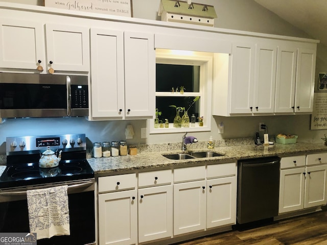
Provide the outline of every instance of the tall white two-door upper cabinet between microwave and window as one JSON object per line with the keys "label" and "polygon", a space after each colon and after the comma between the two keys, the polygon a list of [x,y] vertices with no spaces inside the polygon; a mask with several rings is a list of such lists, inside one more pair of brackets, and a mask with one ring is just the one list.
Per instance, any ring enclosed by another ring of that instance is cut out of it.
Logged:
{"label": "tall white two-door upper cabinet between microwave and window", "polygon": [[152,118],[153,34],[91,28],[91,119]]}

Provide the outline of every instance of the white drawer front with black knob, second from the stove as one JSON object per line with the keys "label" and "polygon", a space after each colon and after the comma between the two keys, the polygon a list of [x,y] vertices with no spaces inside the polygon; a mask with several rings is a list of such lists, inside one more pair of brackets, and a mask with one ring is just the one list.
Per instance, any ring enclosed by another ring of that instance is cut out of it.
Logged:
{"label": "white drawer front with black knob, second from the stove", "polygon": [[172,183],[172,170],[150,171],[138,174],[138,187],[169,185]]}

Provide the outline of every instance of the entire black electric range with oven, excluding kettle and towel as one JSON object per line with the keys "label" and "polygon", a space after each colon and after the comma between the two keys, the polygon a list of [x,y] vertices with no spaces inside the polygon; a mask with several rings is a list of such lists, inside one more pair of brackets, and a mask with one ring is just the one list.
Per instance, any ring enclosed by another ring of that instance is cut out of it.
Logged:
{"label": "entire black electric range with oven, excluding kettle and towel", "polygon": [[[68,185],[71,235],[39,239],[37,244],[94,244],[94,171],[86,160],[85,134],[9,137],[7,167],[0,177],[0,233],[30,232],[26,191]],[[40,168],[50,146],[62,151],[57,167]]]}

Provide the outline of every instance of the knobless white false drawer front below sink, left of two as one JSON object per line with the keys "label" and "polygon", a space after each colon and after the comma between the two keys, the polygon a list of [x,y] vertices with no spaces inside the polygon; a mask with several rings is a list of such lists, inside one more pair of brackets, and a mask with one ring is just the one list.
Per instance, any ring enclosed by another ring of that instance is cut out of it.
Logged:
{"label": "knobless white false drawer front below sink, left of two", "polygon": [[174,169],[174,182],[185,182],[205,179],[205,166]]}

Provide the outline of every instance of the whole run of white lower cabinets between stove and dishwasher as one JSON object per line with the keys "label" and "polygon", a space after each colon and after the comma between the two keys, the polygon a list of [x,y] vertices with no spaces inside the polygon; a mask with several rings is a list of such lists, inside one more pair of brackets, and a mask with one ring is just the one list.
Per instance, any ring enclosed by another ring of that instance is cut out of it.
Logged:
{"label": "whole run of white lower cabinets between stove and dishwasher", "polygon": [[98,179],[99,244],[159,242],[236,223],[233,163]]}

